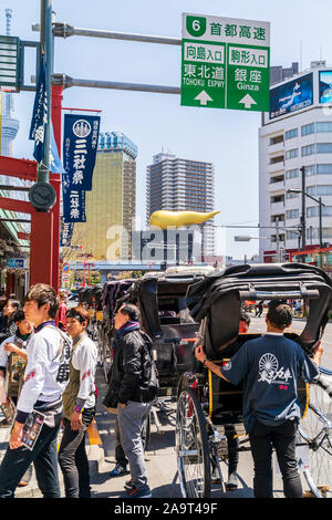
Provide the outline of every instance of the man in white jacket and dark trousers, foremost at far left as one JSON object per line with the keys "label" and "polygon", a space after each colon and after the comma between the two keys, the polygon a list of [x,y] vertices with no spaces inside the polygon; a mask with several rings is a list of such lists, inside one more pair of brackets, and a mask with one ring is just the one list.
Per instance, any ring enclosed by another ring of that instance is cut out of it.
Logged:
{"label": "man in white jacket and dark trousers, foremost at far left", "polygon": [[[60,498],[58,476],[58,431],[63,416],[62,394],[69,381],[71,340],[55,325],[59,310],[56,293],[38,283],[25,297],[27,320],[34,323],[27,354],[24,384],[18,401],[17,417],[9,448],[0,466],[0,497],[11,498],[33,462],[39,488],[44,498]],[[22,444],[23,426],[35,409],[44,423],[32,450]]]}

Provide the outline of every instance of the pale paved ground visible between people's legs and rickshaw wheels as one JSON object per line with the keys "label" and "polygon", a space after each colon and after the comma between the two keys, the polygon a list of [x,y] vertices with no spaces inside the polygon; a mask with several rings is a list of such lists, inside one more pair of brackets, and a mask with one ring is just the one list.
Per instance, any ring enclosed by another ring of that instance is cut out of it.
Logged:
{"label": "pale paved ground visible between people's legs and rickshaw wheels", "polygon": [[[96,410],[96,426],[90,436],[86,436],[86,449],[91,467],[92,498],[122,498],[124,483],[129,475],[111,478],[110,471],[115,466],[115,416],[110,414],[102,405],[106,391],[106,383],[98,371],[96,377],[98,386],[98,403]],[[180,498],[180,486],[177,474],[177,460],[175,454],[175,410],[176,403],[167,401],[166,413],[158,412],[158,433],[156,424],[152,424],[151,440],[145,453],[148,483],[154,498]],[[0,428],[0,460],[8,446],[9,428]],[[59,436],[59,440],[61,435]],[[222,475],[227,477],[227,465],[222,462]],[[59,468],[60,482],[63,492],[62,472]],[[237,491],[222,493],[219,486],[211,489],[211,498],[252,498],[252,458],[250,453],[241,453],[238,467],[239,487]],[[282,481],[279,475],[274,475],[274,496],[283,497]],[[24,488],[18,488],[18,498],[41,498],[35,476]]]}

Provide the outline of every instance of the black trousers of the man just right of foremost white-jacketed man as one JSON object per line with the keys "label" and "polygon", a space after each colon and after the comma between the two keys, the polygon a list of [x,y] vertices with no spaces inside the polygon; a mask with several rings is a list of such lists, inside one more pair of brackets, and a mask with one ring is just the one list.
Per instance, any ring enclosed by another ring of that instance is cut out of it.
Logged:
{"label": "black trousers of the man just right of foremost white-jacketed man", "polygon": [[66,498],[90,498],[89,460],[85,451],[85,430],[95,415],[95,407],[82,413],[83,425],[79,430],[71,428],[64,418],[64,430],[59,449],[59,465],[63,474]]}

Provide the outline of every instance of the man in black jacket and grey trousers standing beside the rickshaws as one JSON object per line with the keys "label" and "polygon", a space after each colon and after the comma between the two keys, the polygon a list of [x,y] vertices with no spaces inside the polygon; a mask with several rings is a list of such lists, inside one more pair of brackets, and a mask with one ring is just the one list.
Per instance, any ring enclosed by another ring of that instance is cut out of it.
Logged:
{"label": "man in black jacket and grey trousers standing beside the rickshaws", "polygon": [[129,462],[131,479],[123,498],[151,498],[142,426],[158,389],[152,340],[139,330],[139,311],[133,304],[118,309],[114,327],[114,361],[103,404],[106,408],[116,408],[121,445]]}

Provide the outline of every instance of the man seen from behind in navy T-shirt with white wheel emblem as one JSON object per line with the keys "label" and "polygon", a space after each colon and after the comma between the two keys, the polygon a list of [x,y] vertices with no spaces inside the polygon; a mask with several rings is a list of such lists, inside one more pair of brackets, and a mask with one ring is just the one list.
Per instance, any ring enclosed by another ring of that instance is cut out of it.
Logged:
{"label": "man seen from behind in navy T-shirt with white wheel emblem", "polygon": [[323,347],[319,341],[313,357],[287,339],[283,331],[292,322],[292,310],[283,301],[272,301],[266,315],[267,332],[247,341],[222,365],[209,361],[199,345],[195,355],[204,366],[224,379],[243,382],[243,423],[253,458],[253,493],[272,498],[272,449],[276,449],[287,498],[302,498],[295,457],[295,436],[301,419],[297,382],[314,382]]}

